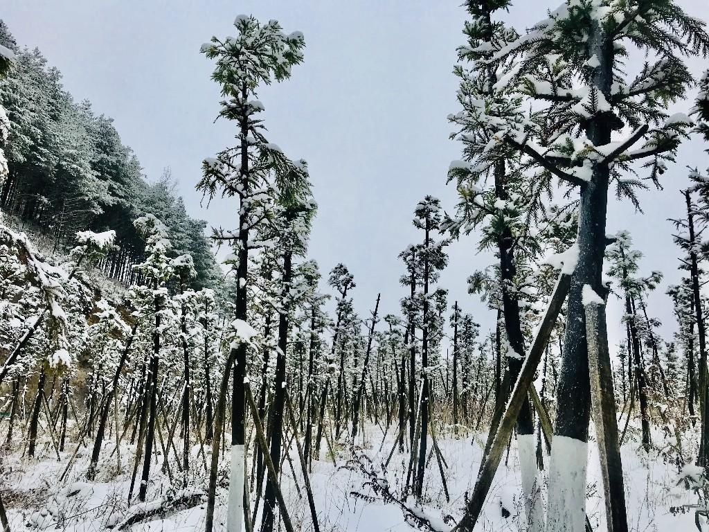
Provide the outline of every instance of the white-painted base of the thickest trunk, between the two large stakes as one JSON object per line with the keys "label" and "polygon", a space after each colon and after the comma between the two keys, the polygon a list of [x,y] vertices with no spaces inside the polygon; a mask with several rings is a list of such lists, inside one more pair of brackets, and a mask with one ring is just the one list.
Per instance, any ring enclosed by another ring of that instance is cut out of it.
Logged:
{"label": "white-painted base of the thickest trunk, between the two large stakes", "polygon": [[586,526],[588,444],[554,436],[549,464],[547,532],[583,532]]}

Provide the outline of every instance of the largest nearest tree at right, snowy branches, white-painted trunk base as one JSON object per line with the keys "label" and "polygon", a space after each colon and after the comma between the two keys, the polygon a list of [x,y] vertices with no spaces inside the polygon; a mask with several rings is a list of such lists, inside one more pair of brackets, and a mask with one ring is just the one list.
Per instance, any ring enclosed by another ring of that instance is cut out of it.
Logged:
{"label": "largest nearest tree at right, snowy branches, white-painted trunk base", "polygon": [[[647,50],[652,59],[627,81],[623,63],[632,47]],[[657,182],[665,161],[674,160],[688,119],[665,110],[692,82],[681,55],[708,51],[703,23],[675,2],[658,0],[623,6],[569,1],[498,52],[501,58],[525,54],[516,79],[532,98],[547,103],[535,113],[534,127],[510,131],[502,143],[580,189],[579,255],[571,275],[549,472],[549,532],[579,530],[584,522],[585,504],[579,501],[585,500],[590,396],[581,293],[587,285],[596,294],[606,292],[601,275],[608,188],[615,184],[616,194],[637,206],[633,186],[642,183],[623,179],[623,173],[642,161]],[[623,140],[611,142],[613,131],[624,130]],[[570,455],[578,459],[569,461]]]}

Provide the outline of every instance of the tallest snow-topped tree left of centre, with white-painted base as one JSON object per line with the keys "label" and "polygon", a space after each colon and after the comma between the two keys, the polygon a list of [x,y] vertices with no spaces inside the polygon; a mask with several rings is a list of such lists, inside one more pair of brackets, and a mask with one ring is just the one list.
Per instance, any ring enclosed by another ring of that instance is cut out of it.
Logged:
{"label": "tallest snow-topped tree left of centre, with white-painted base", "polygon": [[[213,37],[202,45],[201,52],[216,60],[212,79],[220,86],[223,96],[219,116],[235,121],[237,145],[218,153],[215,159],[203,162],[203,177],[197,189],[210,199],[217,194],[236,196],[239,200],[238,229],[215,231],[217,240],[233,244],[237,255],[237,287],[234,317],[247,323],[248,262],[250,231],[262,221],[263,194],[273,177],[279,189],[290,194],[290,186],[298,187],[305,179],[300,165],[289,161],[281,149],[267,142],[259,113],[264,106],[256,99],[257,89],[264,84],[283,81],[291,75],[291,67],[303,60],[305,40],[300,32],[285,35],[278,21],[260,23],[253,16],[235,18],[237,35],[224,40]],[[222,379],[216,414],[215,439],[208,489],[206,532],[211,532],[218,472],[219,438],[226,411],[225,394],[228,374],[233,370],[232,394],[232,461],[229,477],[227,529],[240,532],[243,523],[245,388],[247,375],[245,342],[235,343],[230,350]],[[234,367],[233,367],[234,366]]]}

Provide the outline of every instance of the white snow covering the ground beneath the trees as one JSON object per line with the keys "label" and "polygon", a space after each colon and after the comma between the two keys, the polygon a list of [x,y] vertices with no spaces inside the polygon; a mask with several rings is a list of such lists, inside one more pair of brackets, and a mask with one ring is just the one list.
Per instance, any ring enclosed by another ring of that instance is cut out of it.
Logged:
{"label": "white snow covering the ground beneath the trees", "polygon": [[[391,432],[391,431],[390,431]],[[591,431],[593,432],[593,431]],[[479,469],[481,447],[484,445],[484,434],[460,436],[440,436],[439,445],[447,462],[446,480],[451,499],[447,502],[440,480],[435,457],[430,460],[425,482],[424,511],[438,518],[451,514],[460,516],[464,506],[465,493],[470,491]],[[367,442],[362,447],[364,453],[372,458],[374,465],[381,464],[389,455],[393,436],[389,435],[381,444],[381,431],[376,426],[367,428]],[[372,438],[372,441],[369,440]],[[661,435],[656,436],[656,443],[661,442]],[[374,443],[373,443],[374,442]],[[91,444],[90,438],[86,439]],[[358,443],[361,440],[358,438]],[[74,466],[63,482],[60,477],[67,467],[67,461],[75,449],[75,443],[67,445],[67,452],[61,454],[57,462],[52,444],[47,441],[39,446],[39,458],[29,460],[21,458],[22,450],[6,454],[0,462],[0,489],[8,507],[11,530],[41,531],[62,530],[72,532],[93,532],[106,530],[108,527],[120,525],[127,516],[141,506],[130,506],[127,502],[130,474],[133,470],[133,453],[131,445],[121,445],[121,470],[116,475],[116,454],[111,453],[113,444],[107,444],[99,463],[97,482],[86,482],[86,467],[89,462],[90,448],[79,449]],[[176,442],[177,448],[180,448]],[[595,530],[605,529],[603,518],[603,501],[598,468],[598,455],[595,445],[589,445],[591,455],[588,463],[587,512],[588,518]],[[311,484],[318,509],[320,528],[323,531],[411,531],[404,521],[403,514],[393,504],[384,505],[381,501],[364,501],[350,495],[352,491],[372,495],[371,490],[362,489],[365,479],[359,472],[342,467],[349,456],[349,450],[344,446],[337,453],[335,468],[331,460],[323,455],[323,460],[313,462]],[[298,474],[298,486],[302,497],[294,487],[291,470],[284,463],[281,482],[284,485],[284,497],[288,504],[291,519],[296,530],[311,529],[302,479],[299,473],[297,454],[291,453],[294,467]],[[172,455],[174,458],[174,455]],[[159,505],[161,501],[179,497],[179,488],[170,487],[166,472],[160,471],[162,455],[157,455],[153,466],[145,506]],[[223,460],[223,467],[229,463],[229,456]],[[208,460],[207,460],[208,462]],[[206,486],[206,475],[203,455],[197,445],[191,456],[191,463],[197,471],[190,477],[192,489],[203,489]],[[247,462],[250,470],[250,461]],[[548,456],[545,455],[545,466],[548,466]],[[171,460],[174,484],[182,487],[181,475],[177,471],[174,460]],[[406,475],[408,455],[394,453],[388,469],[389,483],[396,494],[400,492],[401,478]],[[691,531],[695,529],[694,514],[674,515],[671,506],[692,504],[696,495],[674,487],[678,479],[678,466],[665,463],[657,453],[641,455],[639,445],[635,442],[623,447],[623,467],[625,470],[626,499],[628,501],[628,517],[630,531],[661,532],[667,530]],[[140,475],[140,471],[138,471]],[[220,504],[216,510],[215,529],[225,530],[226,469],[220,472],[220,488],[218,494]],[[140,482],[140,480],[137,480]],[[177,490],[177,491],[176,491]],[[135,493],[138,492],[138,484]],[[672,495],[679,493],[679,497]],[[527,526],[523,512],[523,501],[520,499],[520,470],[516,445],[513,443],[506,460],[493,482],[484,513],[476,527],[476,531],[525,531]],[[135,497],[135,495],[134,495]],[[413,500],[408,504],[413,506]],[[502,508],[510,512],[503,517]],[[126,527],[135,532],[155,531],[202,531],[206,504],[199,504],[191,509],[177,511],[164,516],[154,516],[145,522]]]}

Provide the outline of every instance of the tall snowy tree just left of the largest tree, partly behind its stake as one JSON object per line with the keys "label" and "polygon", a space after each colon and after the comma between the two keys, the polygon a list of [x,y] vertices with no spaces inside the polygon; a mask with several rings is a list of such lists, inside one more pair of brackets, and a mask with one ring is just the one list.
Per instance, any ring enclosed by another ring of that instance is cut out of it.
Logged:
{"label": "tall snowy tree just left of the largest tree, partly behind its stake", "polygon": [[[543,179],[527,179],[514,150],[500,150],[494,159],[475,165],[485,153],[486,146],[498,135],[523,122],[520,95],[506,91],[503,85],[504,79],[513,74],[514,65],[502,63],[499,75],[497,65],[493,67],[496,50],[517,36],[503,23],[493,21],[496,11],[506,9],[508,4],[508,1],[467,3],[471,21],[466,23],[464,33],[468,43],[458,49],[462,63],[454,69],[461,80],[458,101],[462,111],[449,119],[459,127],[459,133],[453,137],[462,140],[464,156],[472,162],[452,162],[449,179],[456,180],[461,196],[459,218],[450,221],[454,233],[469,233],[474,228],[481,228],[483,237],[479,247],[492,248],[498,257],[494,269],[497,278],[488,284],[493,284],[498,292],[490,299],[496,301],[501,318],[498,334],[504,336],[502,344],[511,386],[516,382],[525,358],[525,324],[520,309],[520,300],[524,299],[520,288],[527,277],[524,255],[533,256],[538,250],[537,242],[530,238],[530,221],[537,216],[540,196],[547,192],[548,184]],[[473,67],[468,69],[468,63]],[[471,288],[479,291],[480,276],[474,276],[472,280]],[[508,390],[504,389],[496,394],[497,408],[486,450],[496,433],[507,393]],[[527,519],[532,530],[540,531],[544,519],[535,465],[535,426],[529,401],[523,403],[516,428]]]}

